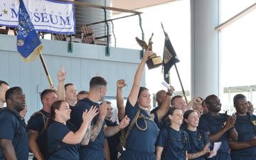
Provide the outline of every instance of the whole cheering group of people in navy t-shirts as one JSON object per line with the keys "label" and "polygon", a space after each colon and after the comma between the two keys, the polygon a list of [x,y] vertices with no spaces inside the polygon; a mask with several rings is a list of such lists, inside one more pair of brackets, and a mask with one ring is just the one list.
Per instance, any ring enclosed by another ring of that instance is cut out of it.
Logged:
{"label": "whole cheering group of people in navy t-shirts", "polygon": [[[64,85],[62,67],[58,91],[43,90],[43,108],[27,124],[23,90],[0,81],[0,159],[27,160],[29,151],[38,160],[256,159],[256,117],[245,95],[235,95],[236,112],[228,115],[220,113],[216,95],[194,97],[186,104],[182,96],[173,96],[170,86],[157,92],[159,107],[150,112],[150,92],[140,84],[152,54],[144,53],[126,104],[125,80],[117,81],[119,122],[112,121],[112,104],[104,100],[107,81],[100,76],[90,80],[89,92],[77,93],[72,83]],[[218,151],[213,150],[215,142],[221,142]]]}

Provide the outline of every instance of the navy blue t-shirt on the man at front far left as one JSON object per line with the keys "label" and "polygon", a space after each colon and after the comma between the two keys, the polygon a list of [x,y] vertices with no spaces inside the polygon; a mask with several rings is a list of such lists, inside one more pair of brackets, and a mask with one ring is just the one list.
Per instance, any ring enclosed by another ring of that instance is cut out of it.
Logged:
{"label": "navy blue t-shirt on the man at front far left", "polygon": [[[0,116],[0,139],[9,139],[11,140],[15,154],[18,160],[28,159],[28,129],[25,122],[21,122],[18,118],[21,118],[20,115],[16,112],[16,116],[10,111],[1,112]],[[18,130],[21,126],[21,132],[18,133]],[[18,135],[15,135],[18,134]],[[0,159],[6,159],[2,149],[0,149]]]}

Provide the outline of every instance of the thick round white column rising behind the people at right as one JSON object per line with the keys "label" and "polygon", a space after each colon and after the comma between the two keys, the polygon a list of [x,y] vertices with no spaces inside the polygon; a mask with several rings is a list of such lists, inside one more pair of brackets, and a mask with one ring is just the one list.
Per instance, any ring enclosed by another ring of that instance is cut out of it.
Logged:
{"label": "thick round white column rising behind the people at right", "polygon": [[219,0],[191,0],[191,98],[220,95]]}

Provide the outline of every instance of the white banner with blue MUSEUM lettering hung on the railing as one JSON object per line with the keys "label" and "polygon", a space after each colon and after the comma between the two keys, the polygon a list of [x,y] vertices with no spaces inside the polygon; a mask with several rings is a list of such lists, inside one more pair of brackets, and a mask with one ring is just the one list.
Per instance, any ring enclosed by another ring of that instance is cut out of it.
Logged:
{"label": "white banner with blue MUSEUM lettering hung on the railing", "polygon": [[[75,33],[75,11],[72,2],[23,0],[36,31]],[[19,0],[0,1],[0,26],[17,28]]]}

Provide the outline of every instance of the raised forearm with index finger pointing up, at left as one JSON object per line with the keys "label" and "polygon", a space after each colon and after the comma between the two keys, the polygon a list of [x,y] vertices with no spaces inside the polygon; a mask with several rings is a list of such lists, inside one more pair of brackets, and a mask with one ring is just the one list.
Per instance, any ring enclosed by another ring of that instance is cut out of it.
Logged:
{"label": "raised forearm with index finger pointing up, at left", "polygon": [[58,100],[65,100],[65,77],[67,71],[64,71],[63,65],[61,65],[60,70],[57,73],[58,78]]}

